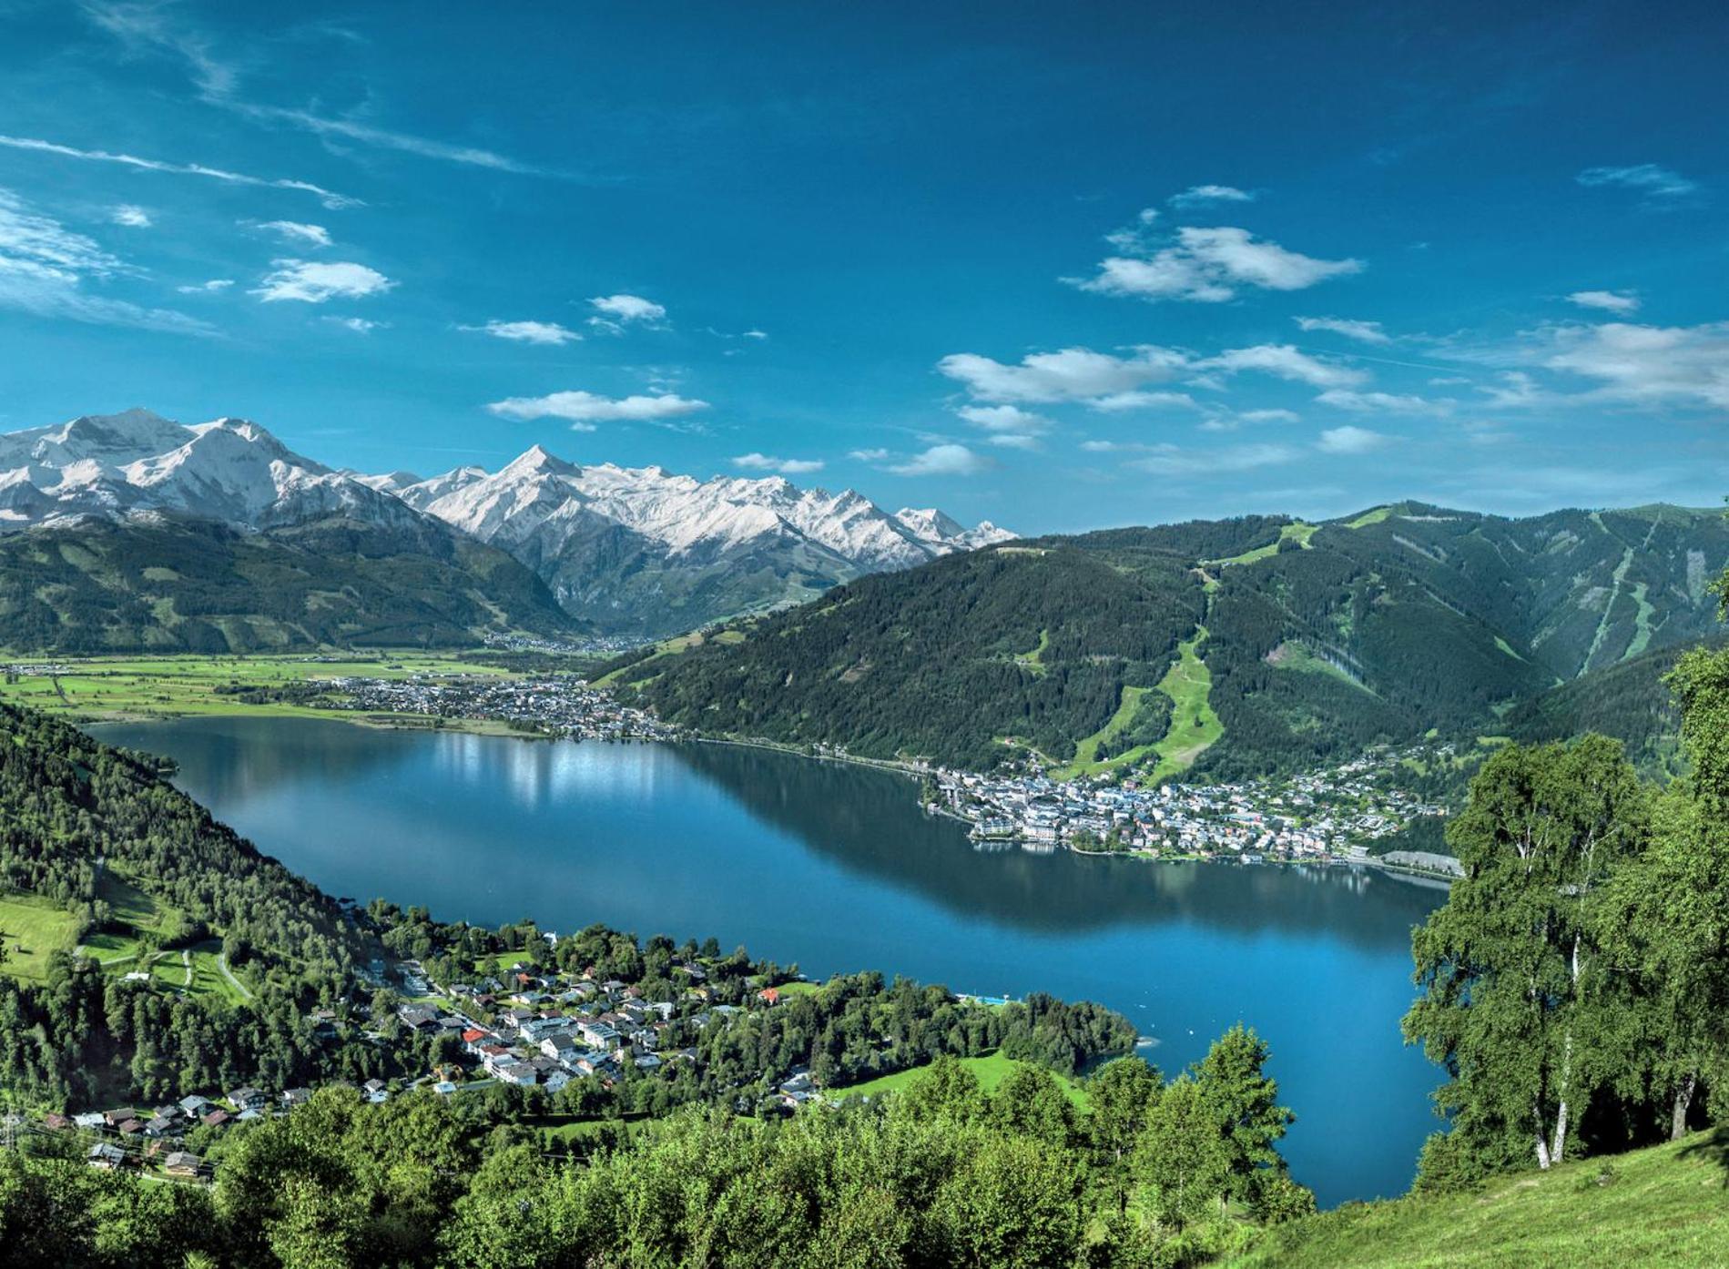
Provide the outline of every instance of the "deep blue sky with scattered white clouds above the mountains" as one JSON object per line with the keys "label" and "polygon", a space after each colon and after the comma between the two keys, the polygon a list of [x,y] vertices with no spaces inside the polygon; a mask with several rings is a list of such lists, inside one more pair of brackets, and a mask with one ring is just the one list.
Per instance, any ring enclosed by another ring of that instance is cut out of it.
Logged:
{"label": "deep blue sky with scattered white clouds above the mountains", "polygon": [[0,29],[3,429],[541,443],[1018,531],[1729,491],[1722,5]]}

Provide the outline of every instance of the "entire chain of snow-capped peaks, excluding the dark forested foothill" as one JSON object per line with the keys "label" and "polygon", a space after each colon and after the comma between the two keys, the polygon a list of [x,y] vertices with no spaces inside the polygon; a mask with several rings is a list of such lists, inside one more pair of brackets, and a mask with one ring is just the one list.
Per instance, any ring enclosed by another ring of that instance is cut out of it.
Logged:
{"label": "entire chain of snow-capped peaks, excluding the dark forested foothill", "polygon": [[185,425],[126,410],[0,436],[0,531],[163,513],[258,531],[332,515],[420,536],[455,529],[533,569],[572,615],[643,634],[1013,536],[937,510],[890,515],[852,489],[579,467],[539,446],[496,472],[420,479],[332,470],[244,418]]}

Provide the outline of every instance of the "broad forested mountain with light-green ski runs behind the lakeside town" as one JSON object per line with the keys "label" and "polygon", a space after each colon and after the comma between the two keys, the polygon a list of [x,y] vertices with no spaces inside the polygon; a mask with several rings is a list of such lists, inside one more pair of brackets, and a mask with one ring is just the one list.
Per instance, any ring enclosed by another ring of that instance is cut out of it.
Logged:
{"label": "broad forested mountain with light-green ski runs behind the lakeside town", "polygon": [[[742,640],[616,666],[614,681],[676,723],[861,756],[1184,752],[1238,778],[1432,730],[1503,735],[1518,719],[1537,735],[1591,698],[1544,693],[1613,674],[1617,735],[1655,761],[1672,731],[1655,671],[1617,667],[1713,634],[1708,581],[1726,562],[1722,517],[1677,507],[1112,529],[866,577],[742,622]],[[1183,641],[1196,666],[1162,685]],[[1215,743],[1172,730],[1195,692]]]}

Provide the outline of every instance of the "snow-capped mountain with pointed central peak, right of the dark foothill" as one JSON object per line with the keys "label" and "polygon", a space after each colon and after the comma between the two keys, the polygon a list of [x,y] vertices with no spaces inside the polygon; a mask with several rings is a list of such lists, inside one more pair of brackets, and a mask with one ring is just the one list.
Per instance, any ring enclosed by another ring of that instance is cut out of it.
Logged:
{"label": "snow-capped mountain with pointed central peak, right of the dark foothill", "polygon": [[567,612],[643,634],[1013,538],[989,522],[963,529],[937,510],[890,515],[852,489],[579,467],[541,446],[498,472],[458,467],[429,481],[396,474],[368,484],[510,552]]}

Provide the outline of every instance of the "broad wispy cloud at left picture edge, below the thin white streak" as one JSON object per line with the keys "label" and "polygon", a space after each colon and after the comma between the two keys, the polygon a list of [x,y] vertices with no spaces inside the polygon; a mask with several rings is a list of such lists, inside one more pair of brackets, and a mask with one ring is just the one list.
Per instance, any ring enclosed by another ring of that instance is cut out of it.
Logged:
{"label": "broad wispy cloud at left picture edge, below the thin white streak", "polygon": [[0,308],[97,325],[216,334],[185,313],[142,308],[85,287],[86,282],[100,285],[135,273],[93,239],[31,211],[10,190],[0,190]]}

